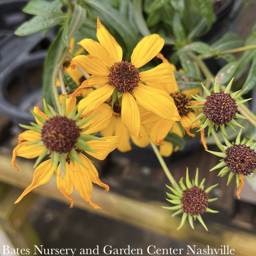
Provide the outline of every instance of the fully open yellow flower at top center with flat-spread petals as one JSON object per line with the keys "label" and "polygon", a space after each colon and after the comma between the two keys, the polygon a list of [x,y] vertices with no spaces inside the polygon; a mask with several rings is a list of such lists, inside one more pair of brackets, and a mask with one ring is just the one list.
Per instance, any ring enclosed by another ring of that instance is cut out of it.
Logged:
{"label": "fully open yellow flower at top center with flat-spread petals", "polygon": [[173,81],[170,65],[161,63],[144,72],[138,70],[160,52],[164,39],[157,34],[143,37],[133,50],[131,62],[128,62],[122,60],[121,46],[99,19],[96,36],[99,43],[91,39],[78,43],[89,55],[79,55],[71,61],[71,68],[78,65],[91,74],[79,89],[100,86],[79,102],[78,111],[85,109],[90,112],[113,96],[122,105],[122,123],[138,139],[141,138],[140,114],[135,99],[143,108],[163,119],[180,120],[173,99],[161,89],[161,84]]}

